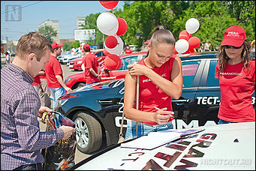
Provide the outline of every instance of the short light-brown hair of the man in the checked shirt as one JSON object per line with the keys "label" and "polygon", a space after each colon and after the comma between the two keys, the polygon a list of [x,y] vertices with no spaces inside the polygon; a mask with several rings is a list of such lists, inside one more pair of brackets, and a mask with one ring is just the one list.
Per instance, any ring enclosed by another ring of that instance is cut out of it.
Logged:
{"label": "short light-brown hair of the man in the checked shirt", "polygon": [[29,32],[29,34],[20,37],[16,48],[16,54],[20,58],[24,58],[29,53],[35,53],[37,61],[40,62],[47,49],[50,49],[50,51],[53,52],[50,42],[43,34]]}

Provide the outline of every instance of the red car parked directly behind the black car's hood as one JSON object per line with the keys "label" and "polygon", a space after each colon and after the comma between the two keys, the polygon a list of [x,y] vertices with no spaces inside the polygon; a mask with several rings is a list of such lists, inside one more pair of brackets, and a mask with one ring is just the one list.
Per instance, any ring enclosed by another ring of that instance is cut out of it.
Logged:
{"label": "red car parked directly behind the black car's hood", "polygon": [[[122,66],[117,71],[109,71],[104,65],[101,66],[101,81],[116,80],[120,78],[125,78],[125,74],[128,71],[127,65],[133,64],[134,62],[139,62],[142,58],[146,56],[146,52],[137,52],[129,55],[123,55],[121,57]],[[65,80],[66,86],[71,89],[77,89],[86,86],[86,79],[83,72],[72,74]]]}

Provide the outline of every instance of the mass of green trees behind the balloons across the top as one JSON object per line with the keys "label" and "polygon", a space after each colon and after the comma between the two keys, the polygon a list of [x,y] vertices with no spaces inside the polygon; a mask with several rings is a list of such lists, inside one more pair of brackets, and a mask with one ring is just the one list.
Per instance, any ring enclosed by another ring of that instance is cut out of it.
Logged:
{"label": "mass of green trees behind the balloons across the top", "polygon": [[[254,1],[124,1],[123,10],[114,8],[110,12],[127,22],[128,30],[121,36],[127,44],[142,46],[158,25],[164,25],[178,40],[190,18],[196,18],[200,23],[200,28],[192,36],[199,37],[202,43],[209,40],[212,49],[220,45],[224,30],[230,26],[242,26],[248,40],[255,37]],[[86,17],[84,28],[95,29],[95,43],[102,45],[106,35],[97,28],[99,14]],[[136,33],[142,34],[138,42]]]}

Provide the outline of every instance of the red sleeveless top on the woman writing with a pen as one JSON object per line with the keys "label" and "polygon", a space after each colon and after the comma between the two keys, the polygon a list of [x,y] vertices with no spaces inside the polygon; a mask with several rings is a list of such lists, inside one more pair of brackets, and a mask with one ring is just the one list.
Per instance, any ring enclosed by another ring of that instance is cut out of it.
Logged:
{"label": "red sleeveless top on the woman writing with a pen", "polygon": [[[167,80],[171,78],[171,72],[173,68],[173,61],[176,56],[170,57],[170,59],[161,65],[160,68],[153,68],[152,71],[155,71],[161,77],[164,77]],[[139,64],[145,65],[143,58]],[[152,80],[146,76],[139,77],[139,110],[149,113],[155,113],[154,107],[159,109],[167,108],[168,111],[173,111],[171,100],[172,98],[164,93],[158,86],[156,86]],[[135,96],[136,97],[136,96]],[[136,108],[136,99],[134,102],[134,108]],[[171,118],[170,118],[171,121]],[[143,121],[144,124],[158,124],[155,121]]]}

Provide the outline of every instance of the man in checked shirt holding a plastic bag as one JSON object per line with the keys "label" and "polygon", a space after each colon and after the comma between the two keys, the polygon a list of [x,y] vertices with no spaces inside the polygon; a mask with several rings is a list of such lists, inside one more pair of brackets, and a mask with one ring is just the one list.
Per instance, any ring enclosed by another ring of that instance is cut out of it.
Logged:
{"label": "man in checked shirt holding a plastic bag", "polygon": [[68,139],[74,127],[62,126],[40,132],[38,117],[47,107],[32,86],[36,77],[50,59],[52,47],[43,34],[30,32],[20,37],[16,56],[1,70],[1,169],[42,169],[42,148],[60,139]]}

